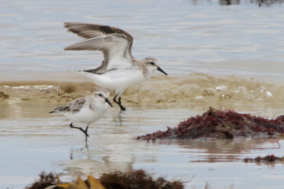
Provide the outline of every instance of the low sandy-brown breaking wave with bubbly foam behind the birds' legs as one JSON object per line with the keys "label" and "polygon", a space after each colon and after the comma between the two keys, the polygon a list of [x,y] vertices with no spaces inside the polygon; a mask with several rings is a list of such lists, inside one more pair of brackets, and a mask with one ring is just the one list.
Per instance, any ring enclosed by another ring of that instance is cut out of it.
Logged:
{"label": "low sandy-brown breaking wave with bubbly foam behind the birds' legs", "polygon": [[[22,82],[24,84],[24,82]],[[90,95],[95,86],[89,81],[31,81],[26,85],[0,86],[1,94],[9,99],[69,102],[75,98]],[[149,81],[128,88],[122,95],[124,104],[170,105],[199,103],[217,105],[220,103],[267,104],[272,107],[283,106],[284,84],[259,82],[256,79],[238,76],[211,76],[191,73],[183,77],[154,76]],[[114,91],[111,90],[111,96]],[[2,97],[4,100],[4,97]]]}

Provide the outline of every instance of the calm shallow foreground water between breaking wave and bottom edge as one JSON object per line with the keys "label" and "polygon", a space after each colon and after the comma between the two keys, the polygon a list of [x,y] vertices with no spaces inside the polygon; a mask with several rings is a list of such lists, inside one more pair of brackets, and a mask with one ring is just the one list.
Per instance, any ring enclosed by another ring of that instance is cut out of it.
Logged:
{"label": "calm shallow foreground water between breaking wave and bottom edge", "polygon": [[[175,126],[184,118],[200,114],[201,107],[129,105],[121,113],[117,107],[110,108],[104,118],[89,128],[90,137],[85,143],[84,134],[71,129],[69,120],[47,114],[53,105],[28,103],[11,102],[9,109],[14,115],[10,113],[1,118],[1,188],[12,185],[22,188],[40,170],[63,172],[63,179],[68,181],[73,176],[99,176],[107,170],[130,167],[153,171],[156,176],[165,175],[169,179],[189,180],[195,175],[187,188],[203,188],[205,182],[212,188],[229,188],[231,184],[234,188],[281,186],[283,164],[244,163],[242,159],[267,154],[282,157],[282,139],[157,140],[154,143],[133,140],[135,136],[165,130],[166,126]],[[6,107],[1,106],[1,109]],[[271,114],[264,115],[267,117],[281,113],[264,112]],[[263,115],[258,110],[253,113]],[[259,180],[260,177],[268,178]]]}

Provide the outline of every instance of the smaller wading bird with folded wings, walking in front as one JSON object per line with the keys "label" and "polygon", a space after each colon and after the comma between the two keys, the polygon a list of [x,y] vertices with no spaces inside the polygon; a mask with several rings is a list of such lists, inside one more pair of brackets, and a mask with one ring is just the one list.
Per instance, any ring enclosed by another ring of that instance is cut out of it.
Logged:
{"label": "smaller wading bird with folded wings, walking in front", "polygon": [[[109,105],[109,92],[106,89],[97,89],[90,96],[80,97],[72,100],[67,106],[57,107],[54,111],[49,113],[62,113],[72,122],[70,123],[71,128],[80,129],[85,133],[86,141],[88,133],[88,127],[91,123],[101,119],[106,113]],[[72,123],[87,123],[87,128],[84,130],[81,127],[74,127]]]}

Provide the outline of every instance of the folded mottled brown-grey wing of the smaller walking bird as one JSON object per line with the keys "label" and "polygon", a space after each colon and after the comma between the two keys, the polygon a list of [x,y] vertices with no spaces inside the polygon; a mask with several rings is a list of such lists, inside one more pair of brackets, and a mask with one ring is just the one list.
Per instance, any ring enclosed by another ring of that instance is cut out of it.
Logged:
{"label": "folded mottled brown-grey wing of the smaller walking bird", "polygon": [[85,102],[86,102],[86,99],[84,97],[81,97],[81,98],[71,101],[67,106],[57,107],[54,109],[54,111],[49,112],[49,113],[56,113],[56,112],[76,113],[81,110]]}

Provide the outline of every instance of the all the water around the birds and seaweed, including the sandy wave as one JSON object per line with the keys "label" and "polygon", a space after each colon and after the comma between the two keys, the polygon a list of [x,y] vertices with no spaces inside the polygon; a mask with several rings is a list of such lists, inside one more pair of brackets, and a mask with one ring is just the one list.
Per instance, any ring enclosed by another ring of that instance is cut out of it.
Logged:
{"label": "all the water around the birds and seaweed, including the sandy wave", "polygon": [[[206,182],[213,189],[281,188],[282,163],[242,161],[282,157],[281,138],[154,143],[133,138],[176,126],[209,106],[265,118],[282,115],[283,4],[26,0],[1,1],[0,10],[0,92],[9,95],[0,95],[0,188],[24,188],[41,170],[63,172],[68,181],[130,167],[169,179],[195,175],[186,188],[204,188]],[[88,130],[87,143],[69,120],[48,114],[88,94],[92,84],[73,70],[93,68],[102,58],[100,52],[63,50],[81,40],[63,28],[68,21],[130,32],[133,56],[154,56],[169,74],[156,72],[125,91],[127,111],[110,108]]]}

